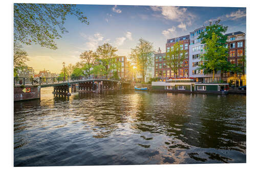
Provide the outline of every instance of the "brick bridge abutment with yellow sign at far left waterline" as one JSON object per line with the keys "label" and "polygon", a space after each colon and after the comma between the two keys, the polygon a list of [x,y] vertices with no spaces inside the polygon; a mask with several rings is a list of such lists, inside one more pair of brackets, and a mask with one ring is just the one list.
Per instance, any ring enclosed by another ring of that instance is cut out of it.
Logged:
{"label": "brick bridge abutment with yellow sign at far left waterline", "polygon": [[40,86],[14,87],[14,102],[31,99],[40,99]]}

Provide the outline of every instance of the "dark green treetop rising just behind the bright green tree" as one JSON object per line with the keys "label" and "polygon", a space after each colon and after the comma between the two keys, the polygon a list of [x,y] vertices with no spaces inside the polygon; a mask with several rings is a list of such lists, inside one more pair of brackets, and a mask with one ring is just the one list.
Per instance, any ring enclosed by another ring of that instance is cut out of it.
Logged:
{"label": "dark green treetop rising just behind the bright green tree", "polygon": [[223,26],[220,24],[220,19],[216,21],[214,24],[210,22],[209,26],[206,26],[206,31],[203,31],[198,36],[198,39],[202,39],[201,43],[206,43],[207,39],[212,38],[212,34],[215,34],[217,36],[217,45],[218,46],[225,46],[227,41],[227,36],[225,36],[225,33],[227,31],[227,26]]}

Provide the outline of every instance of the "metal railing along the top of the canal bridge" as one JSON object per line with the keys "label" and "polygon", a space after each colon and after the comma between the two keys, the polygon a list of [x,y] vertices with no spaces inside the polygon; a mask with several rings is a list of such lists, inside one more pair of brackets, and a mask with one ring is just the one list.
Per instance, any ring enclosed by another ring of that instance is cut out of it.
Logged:
{"label": "metal railing along the top of the canal bridge", "polygon": [[79,80],[91,80],[91,79],[109,79],[119,80],[110,78],[109,76],[71,76],[71,77],[53,77],[53,78],[14,78],[14,85],[41,85],[41,84],[54,84],[61,82],[73,82]]}

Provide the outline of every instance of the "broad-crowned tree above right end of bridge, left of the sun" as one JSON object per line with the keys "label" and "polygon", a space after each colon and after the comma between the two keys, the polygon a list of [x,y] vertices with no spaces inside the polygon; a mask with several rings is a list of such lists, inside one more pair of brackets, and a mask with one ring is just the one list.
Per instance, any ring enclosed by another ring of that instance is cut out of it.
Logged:
{"label": "broad-crowned tree above right end of bridge, left of the sun", "polygon": [[116,63],[116,60],[114,60],[117,55],[115,54],[117,52],[117,48],[113,47],[109,43],[104,43],[103,45],[99,45],[95,55],[97,62],[100,63],[104,67],[104,73],[105,75],[108,75],[111,70],[111,66]]}

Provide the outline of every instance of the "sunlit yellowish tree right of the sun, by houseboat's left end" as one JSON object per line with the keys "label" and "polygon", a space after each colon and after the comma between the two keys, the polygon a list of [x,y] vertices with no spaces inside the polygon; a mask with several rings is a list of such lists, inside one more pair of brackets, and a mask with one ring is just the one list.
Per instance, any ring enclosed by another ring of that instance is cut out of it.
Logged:
{"label": "sunlit yellowish tree right of the sun, by houseboat's left end", "polygon": [[143,82],[145,81],[147,67],[152,65],[153,52],[153,43],[146,41],[143,38],[139,39],[139,43],[134,49],[132,48],[130,56],[133,62],[136,63],[137,68],[140,70]]}

